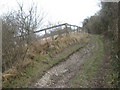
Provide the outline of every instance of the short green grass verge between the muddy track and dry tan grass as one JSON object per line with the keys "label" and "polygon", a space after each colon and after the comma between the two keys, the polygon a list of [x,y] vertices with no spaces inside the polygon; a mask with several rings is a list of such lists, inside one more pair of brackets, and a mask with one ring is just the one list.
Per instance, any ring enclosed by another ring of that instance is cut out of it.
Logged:
{"label": "short green grass verge between the muddy track and dry tan grass", "polygon": [[86,44],[86,42],[81,42],[69,46],[65,48],[64,51],[57,54],[57,57],[54,58],[51,58],[49,55],[37,55],[32,63],[24,68],[24,72],[22,72],[22,75],[18,75],[15,78],[9,78],[9,80],[3,84],[3,88],[29,87],[29,85],[31,85],[31,82],[36,81],[38,78],[44,75],[48,69],[58,64],[59,62],[66,60],[68,56],[70,56],[72,53],[76,52],[80,48],[84,47]]}

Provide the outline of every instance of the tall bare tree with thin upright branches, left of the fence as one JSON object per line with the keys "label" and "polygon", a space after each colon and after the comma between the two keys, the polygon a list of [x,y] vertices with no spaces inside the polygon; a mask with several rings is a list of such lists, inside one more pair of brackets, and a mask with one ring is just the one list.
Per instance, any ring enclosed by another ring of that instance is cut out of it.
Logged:
{"label": "tall bare tree with thin upright branches, left of the fence", "polygon": [[37,15],[37,6],[33,3],[28,12],[24,10],[23,4],[19,4],[19,10],[17,12],[17,24],[20,25],[19,33],[21,38],[26,41],[26,50],[23,59],[26,56],[28,46],[34,36],[34,31],[41,24],[43,16]]}

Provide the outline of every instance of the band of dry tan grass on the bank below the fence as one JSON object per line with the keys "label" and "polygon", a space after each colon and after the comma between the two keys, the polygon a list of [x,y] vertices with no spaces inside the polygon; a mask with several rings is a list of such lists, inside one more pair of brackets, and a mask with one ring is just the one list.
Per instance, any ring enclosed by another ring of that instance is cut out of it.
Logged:
{"label": "band of dry tan grass on the bank below the fence", "polygon": [[[7,81],[10,77],[16,77],[18,74],[22,74],[21,71],[28,65],[32,64],[34,62],[34,58],[37,55],[49,55],[50,57],[54,57],[58,53],[62,52],[65,48],[75,45],[76,43],[79,43],[80,40],[87,37],[88,34],[71,33],[67,37],[66,35],[62,35],[61,37],[57,37],[53,41],[52,38],[49,37],[47,39],[39,39],[37,41],[32,42],[32,45],[29,46],[29,50],[27,52],[25,60],[16,63],[16,68],[11,68],[5,73],[3,73],[3,81]],[[88,42],[87,39],[85,39],[84,42]],[[18,69],[17,67],[19,67],[20,69]]]}

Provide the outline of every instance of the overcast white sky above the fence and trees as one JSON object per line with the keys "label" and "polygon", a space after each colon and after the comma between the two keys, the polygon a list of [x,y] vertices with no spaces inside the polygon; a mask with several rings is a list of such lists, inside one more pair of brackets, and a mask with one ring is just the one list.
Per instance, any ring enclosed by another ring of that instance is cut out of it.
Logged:
{"label": "overcast white sky above the fence and trees", "polygon": [[[17,0],[23,1],[25,6],[34,1],[38,5],[38,10],[46,14],[44,24],[48,22],[69,23],[80,25],[81,22],[100,10],[99,0]],[[11,9],[16,9],[16,0],[0,0],[0,15]]]}

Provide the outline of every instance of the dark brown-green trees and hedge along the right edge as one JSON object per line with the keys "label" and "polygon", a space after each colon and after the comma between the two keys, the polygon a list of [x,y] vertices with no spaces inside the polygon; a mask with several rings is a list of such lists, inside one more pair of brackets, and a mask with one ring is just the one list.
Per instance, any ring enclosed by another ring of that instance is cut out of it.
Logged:
{"label": "dark brown-green trees and hedge along the right edge", "polygon": [[103,35],[112,43],[112,65],[116,71],[115,85],[120,86],[120,2],[101,2],[101,10],[83,21],[83,28],[91,34]]}

